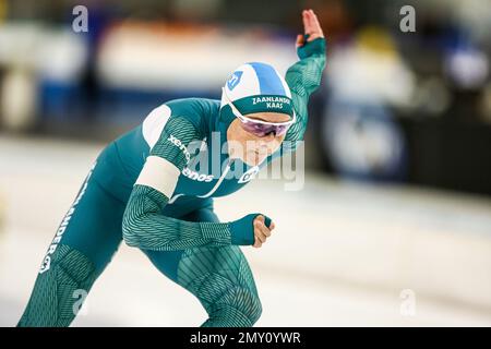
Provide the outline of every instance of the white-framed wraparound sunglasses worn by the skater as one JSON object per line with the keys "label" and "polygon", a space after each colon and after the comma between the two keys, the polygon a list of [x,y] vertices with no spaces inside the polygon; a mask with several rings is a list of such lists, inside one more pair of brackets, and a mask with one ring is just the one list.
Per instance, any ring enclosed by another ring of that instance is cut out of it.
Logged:
{"label": "white-framed wraparound sunglasses worn by the skater", "polygon": [[243,116],[239,109],[236,108],[231,99],[227,95],[227,91],[221,87],[223,94],[225,96],[225,101],[230,106],[232,113],[241,121],[241,127],[244,131],[250,132],[259,137],[264,137],[270,133],[274,133],[275,136],[284,135],[288,129],[297,120],[297,115],[294,110],[294,118],[285,122],[268,122],[264,120],[252,119]]}

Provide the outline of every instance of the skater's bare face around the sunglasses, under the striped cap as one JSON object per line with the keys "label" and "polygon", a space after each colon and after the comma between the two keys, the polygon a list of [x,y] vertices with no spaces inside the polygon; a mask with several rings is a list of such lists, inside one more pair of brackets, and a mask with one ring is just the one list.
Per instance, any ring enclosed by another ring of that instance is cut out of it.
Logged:
{"label": "skater's bare face around the sunglasses, under the striped cap", "polygon": [[[247,116],[250,119],[258,119],[267,122],[286,122],[290,117],[279,112],[255,112]],[[235,119],[227,130],[228,152],[230,157],[240,158],[249,166],[261,164],[267,156],[276,152],[285,134],[266,134],[262,137],[243,129],[241,121]]]}

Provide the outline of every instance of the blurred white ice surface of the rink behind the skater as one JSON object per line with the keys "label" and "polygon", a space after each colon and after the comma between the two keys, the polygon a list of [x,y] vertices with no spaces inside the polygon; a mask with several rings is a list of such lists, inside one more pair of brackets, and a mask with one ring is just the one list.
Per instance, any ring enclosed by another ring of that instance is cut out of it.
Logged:
{"label": "blurred white ice surface of the rink behind the skater", "polygon": [[[39,263],[101,144],[0,136],[0,325],[13,326]],[[372,186],[308,173],[216,201],[220,219],[263,212],[277,226],[243,249],[259,326],[490,326],[491,200]],[[415,313],[402,313],[404,289]],[[121,245],[74,326],[196,326],[196,299]]]}

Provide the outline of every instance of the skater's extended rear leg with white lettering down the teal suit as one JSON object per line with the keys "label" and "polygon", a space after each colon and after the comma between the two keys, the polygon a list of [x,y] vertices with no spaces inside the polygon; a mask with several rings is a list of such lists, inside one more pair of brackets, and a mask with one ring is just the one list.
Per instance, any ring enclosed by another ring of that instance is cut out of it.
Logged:
{"label": "skater's extended rear leg with white lettering down the teal suit", "polygon": [[69,326],[122,240],[124,205],[91,176],[57,230],[17,326]]}

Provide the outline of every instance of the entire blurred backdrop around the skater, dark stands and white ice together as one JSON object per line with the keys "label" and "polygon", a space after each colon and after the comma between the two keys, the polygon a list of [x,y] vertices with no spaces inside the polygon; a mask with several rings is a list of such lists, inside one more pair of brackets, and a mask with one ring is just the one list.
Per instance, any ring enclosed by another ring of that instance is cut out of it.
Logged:
{"label": "entire blurred backdrop around the skater, dark stands and white ice together", "polygon": [[[0,0],[0,325],[104,145],[166,100],[219,98],[243,62],[286,72],[310,8],[328,47],[304,189],[258,180],[216,201],[225,221],[276,220],[244,249],[258,325],[491,325],[490,0]],[[122,245],[73,325],[204,318]]]}

